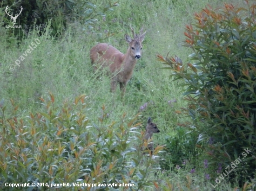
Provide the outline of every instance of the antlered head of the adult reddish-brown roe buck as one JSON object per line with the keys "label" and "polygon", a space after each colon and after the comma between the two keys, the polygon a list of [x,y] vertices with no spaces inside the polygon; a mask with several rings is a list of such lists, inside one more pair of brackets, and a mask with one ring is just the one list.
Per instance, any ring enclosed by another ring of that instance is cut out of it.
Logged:
{"label": "antlered head of the adult reddish-brown roe buck", "polygon": [[129,51],[129,55],[131,57],[134,57],[136,59],[139,59],[141,58],[141,50],[142,50],[142,45],[141,43],[143,42],[144,40],[144,37],[145,37],[145,34],[146,32],[143,32],[143,26],[141,28],[141,31],[140,31],[140,34],[135,34],[134,33],[134,29],[132,28],[132,26],[130,25],[130,28],[133,32],[133,39],[128,35],[128,34],[125,34],[124,37],[125,37],[125,40],[126,42],[129,43],[129,48],[128,48],[128,51]]}

